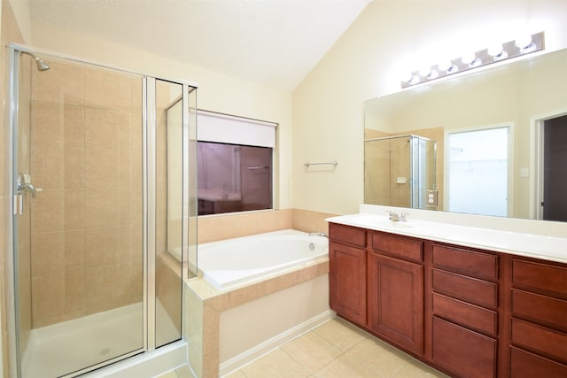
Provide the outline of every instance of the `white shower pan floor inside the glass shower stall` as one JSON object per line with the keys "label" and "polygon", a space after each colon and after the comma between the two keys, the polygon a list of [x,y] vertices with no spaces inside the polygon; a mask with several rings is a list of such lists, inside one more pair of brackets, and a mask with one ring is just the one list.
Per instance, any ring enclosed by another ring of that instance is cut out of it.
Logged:
{"label": "white shower pan floor inside the glass shower stall", "polygon": [[[156,319],[165,340],[175,340],[179,332],[163,305],[156,301]],[[142,350],[143,304],[126,305],[68,320],[30,332],[22,359],[23,378],[55,378],[114,359],[131,351]]]}

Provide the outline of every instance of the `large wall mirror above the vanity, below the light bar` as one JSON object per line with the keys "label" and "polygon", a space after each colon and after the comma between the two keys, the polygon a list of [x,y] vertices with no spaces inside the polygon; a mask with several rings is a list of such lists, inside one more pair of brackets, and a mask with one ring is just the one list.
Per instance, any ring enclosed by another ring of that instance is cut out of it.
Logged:
{"label": "large wall mirror above the vanity, below the light bar", "polygon": [[[558,50],[369,100],[364,203],[567,221],[566,67]],[[416,163],[426,184],[396,173],[416,160],[397,158],[400,137],[406,150],[412,138],[433,143],[432,162]],[[410,185],[424,205],[400,203]]]}

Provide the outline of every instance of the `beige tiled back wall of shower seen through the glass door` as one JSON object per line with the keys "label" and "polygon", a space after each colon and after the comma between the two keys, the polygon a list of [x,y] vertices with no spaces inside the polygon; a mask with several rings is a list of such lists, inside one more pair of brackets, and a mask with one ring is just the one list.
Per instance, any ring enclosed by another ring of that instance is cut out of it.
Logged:
{"label": "beige tiled back wall of shower seen through the glass door", "polygon": [[33,70],[33,327],[142,299],[142,83]]}

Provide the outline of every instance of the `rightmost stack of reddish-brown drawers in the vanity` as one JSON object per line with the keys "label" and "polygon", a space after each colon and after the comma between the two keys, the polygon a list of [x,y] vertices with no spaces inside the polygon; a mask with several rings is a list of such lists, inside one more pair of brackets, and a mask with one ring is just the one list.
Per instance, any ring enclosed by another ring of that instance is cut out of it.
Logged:
{"label": "rightmost stack of reddish-brown drawers in the vanity", "polygon": [[510,261],[510,377],[567,377],[567,266]]}

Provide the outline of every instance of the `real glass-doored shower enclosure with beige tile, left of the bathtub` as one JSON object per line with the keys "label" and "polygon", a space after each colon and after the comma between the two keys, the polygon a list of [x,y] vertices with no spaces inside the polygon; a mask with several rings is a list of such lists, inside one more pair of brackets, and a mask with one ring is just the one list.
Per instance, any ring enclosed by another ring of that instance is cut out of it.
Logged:
{"label": "real glass-doored shower enclosure with beige tile, left of the bathtub", "polygon": [[8,52],[11,374],[76,376],[182,339],[196,86]]}

